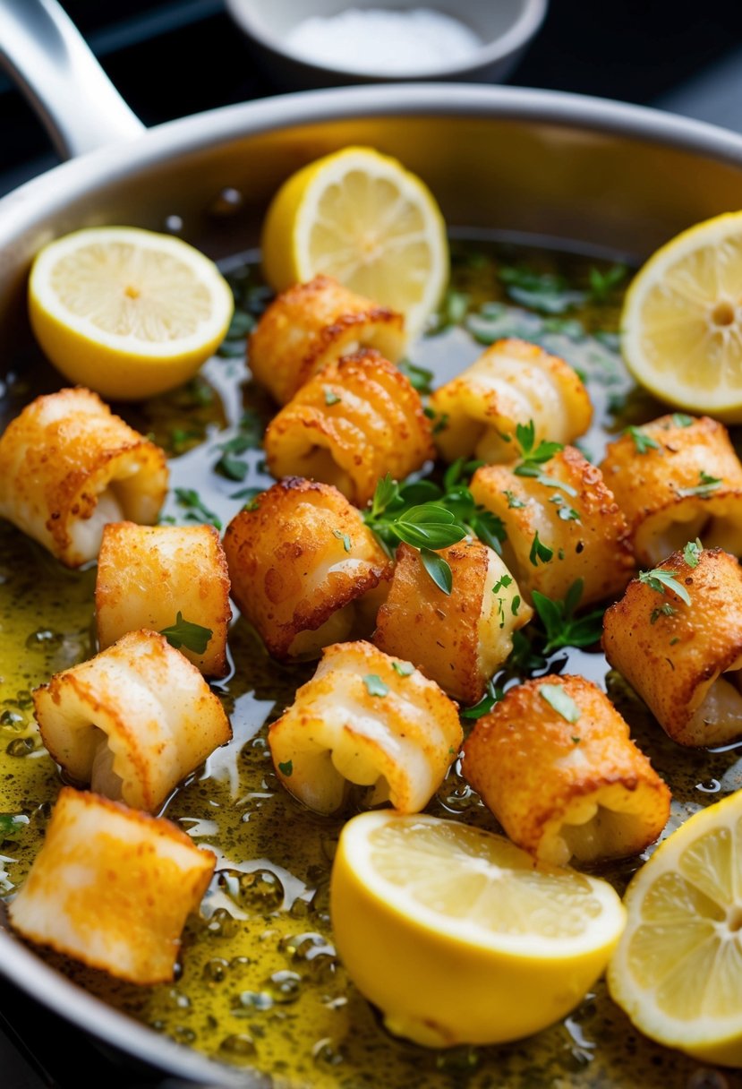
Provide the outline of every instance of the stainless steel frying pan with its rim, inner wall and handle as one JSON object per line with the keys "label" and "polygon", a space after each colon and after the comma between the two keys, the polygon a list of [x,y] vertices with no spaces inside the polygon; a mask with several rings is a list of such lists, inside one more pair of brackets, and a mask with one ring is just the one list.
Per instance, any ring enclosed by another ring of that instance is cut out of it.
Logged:
{"label": "stainless steel frying pan with its rim, inner wall and handle", "polygon": [[[267,204],[292,171],[350,143],[401,158],[450,224],[547,236],[630,260],[742,206],[742,138],[640,107],[407,84],[281,96],[145,131],[54,0],[0,0],[0,61],[71,160],[0,200],[0,358],[11,364],[30,337],[28,266],[50,238],[101,223],[162,230],[178,217],[183,236],[218,259],[256,243]],[[239,200],[225,203],[226,188]],[[1,915],[0,971],[159,1069],[210,1085],[264,1084],[83,992],[17,942]]]}

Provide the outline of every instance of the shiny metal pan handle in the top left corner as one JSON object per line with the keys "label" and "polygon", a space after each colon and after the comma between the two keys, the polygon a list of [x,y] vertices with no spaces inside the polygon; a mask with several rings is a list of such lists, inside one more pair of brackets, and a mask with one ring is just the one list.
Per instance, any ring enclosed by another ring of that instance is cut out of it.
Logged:
{"label": "shiny metal pan handle in the top left corner", "polygon": [[0,0],[0,64],[63,159],[145,130],[57,0]]}

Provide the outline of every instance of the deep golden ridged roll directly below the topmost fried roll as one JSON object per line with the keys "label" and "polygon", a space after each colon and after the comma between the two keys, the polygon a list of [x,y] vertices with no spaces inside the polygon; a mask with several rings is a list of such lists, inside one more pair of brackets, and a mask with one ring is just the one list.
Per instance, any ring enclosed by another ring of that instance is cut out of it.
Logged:
{"label": "deep golden ridged roll directly below the topmost fried roll", "polygon": [[419,394],[369,348],[302,386],[269,425],[264,445],[274,477],[322,480],[356,506],[369,502],[384,474],[401,480],[435,455]]}

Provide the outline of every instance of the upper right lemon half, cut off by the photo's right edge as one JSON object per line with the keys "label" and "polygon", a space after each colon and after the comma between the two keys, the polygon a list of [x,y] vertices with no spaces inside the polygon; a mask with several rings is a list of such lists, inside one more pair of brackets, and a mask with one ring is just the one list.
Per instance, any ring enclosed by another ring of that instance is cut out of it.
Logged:
{"label": "upper right lemon half, cut off by the photo's right edge", "polygon": [[629,370],[679,408],[742,420],[742,211],[706,220],[658,249],[621,315]]}

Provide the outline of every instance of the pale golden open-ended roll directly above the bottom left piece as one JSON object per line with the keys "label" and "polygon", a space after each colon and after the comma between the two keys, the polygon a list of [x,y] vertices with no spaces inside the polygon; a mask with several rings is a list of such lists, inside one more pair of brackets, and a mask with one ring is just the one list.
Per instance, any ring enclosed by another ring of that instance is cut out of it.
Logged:
{"label": "pale golden open-ended roll directly above the bottom left piece", "polygon": [[34,692],[41,739],[65,774],[157,811],[232,730],[219,698],[157,632],[128,632]]}

